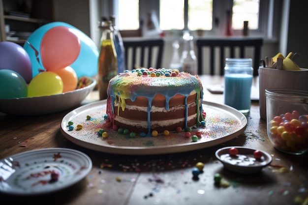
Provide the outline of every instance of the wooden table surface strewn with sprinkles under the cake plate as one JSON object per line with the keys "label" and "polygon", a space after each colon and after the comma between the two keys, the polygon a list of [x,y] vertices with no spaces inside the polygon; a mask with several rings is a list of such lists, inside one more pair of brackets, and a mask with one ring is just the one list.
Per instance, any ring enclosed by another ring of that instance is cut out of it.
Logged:
{"label": "wooden table surface strewn with sprinkles under the cake plate", "polygon": [[[220,76],[200,76],[204,100],[223,103],[222,94],[211,94],[207,85],[221,84]],[[257,79],[254,79],[257,86]],[[93,91],[84,103],[98,100]],[[75,108],[72,108],[73,110]],[[90,150],[68,141],[61,133],[62,118],[69,112],[17,117],[0,114],[0,158],[39,148],[67,147],[92,159],[88,176],[60,192],[36,197],[0,194],[0,202],[56,205],[307,205],[308,154],[290,155],[277,151],[260,119],[258,102],[252,102],[243,134],[224,144],[200,150],[150,156],[117,155]],[[20,146],[27,145],[26,147]],[[258,174],[237,174],[223,168],[215,151],[223,146],[261,149],[273,156],[271,165]],[[192,169],[205,164],[197,180]],[[214,184],[219,173],[230,183]],[[303,200],[306,199],[306,204]],[[297,203],[298,202],[298,203]],[[4,203],[5,204],[5,203]],[[7,203],[9,204],[9,203]]]}

